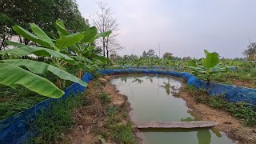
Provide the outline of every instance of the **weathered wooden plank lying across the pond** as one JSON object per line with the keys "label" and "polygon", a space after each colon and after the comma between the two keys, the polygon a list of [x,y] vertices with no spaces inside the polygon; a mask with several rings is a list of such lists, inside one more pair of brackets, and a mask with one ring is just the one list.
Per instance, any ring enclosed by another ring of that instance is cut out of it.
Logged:
{"label": "weathered wooden plank lying across the pond", "polygon": [[135,126],[138,129],[145,128],[201,128],[201,127],[211,127],[217,126],[218,122],[210,121],[193,121],[193,122],[139,122]]}

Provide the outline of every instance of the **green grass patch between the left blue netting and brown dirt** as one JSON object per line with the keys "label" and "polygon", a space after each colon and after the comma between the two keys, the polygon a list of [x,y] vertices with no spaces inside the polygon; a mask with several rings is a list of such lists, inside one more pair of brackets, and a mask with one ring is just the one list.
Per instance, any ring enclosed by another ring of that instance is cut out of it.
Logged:
{"label": "green grass patch between the left blue netting and brown dirt", "polygon": [[30,123],[33,130],[37,130],[33,143],[58,142],[64,137],[64,133],[75,124],[72,112],[78,106],[82,106],[82,96],[70,96],[65,100],[53,102],[49,110],[42,110],[36,115],[36,119]]}

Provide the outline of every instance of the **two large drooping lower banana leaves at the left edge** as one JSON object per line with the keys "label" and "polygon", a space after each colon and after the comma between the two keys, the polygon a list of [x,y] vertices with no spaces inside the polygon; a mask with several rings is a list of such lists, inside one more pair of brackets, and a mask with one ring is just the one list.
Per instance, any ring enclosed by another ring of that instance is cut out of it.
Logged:
{"label": "two large drooping lower banana leaves at the left edge", "polygon": [[[26,66],[28,70],[25,70],[20,66]],[[44,62],[35,62],[26,59],[0,61],[0,84],[10,86],[11,88],[24,86],[43,96],[60,98],[64,92],[46,78],[37,75],[46,75],[48,71],[58,76],[58,78],[77,82],[82,86],[87,86],[86,82],[83,82],[81,79],[76,78],[74,75],[61,70],[58,67],[51,66]]]}

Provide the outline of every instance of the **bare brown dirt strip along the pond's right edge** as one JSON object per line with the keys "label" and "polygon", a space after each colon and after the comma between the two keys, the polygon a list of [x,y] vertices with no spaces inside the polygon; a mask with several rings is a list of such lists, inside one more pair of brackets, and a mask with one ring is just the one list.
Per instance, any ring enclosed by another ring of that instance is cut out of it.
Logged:
{"label": "bare brown dirt strip along the pond's right edge", "polygon": [[[186,85],[182,86],[184,89]],[[242,122],[237,118],[232,117],[224,110],[216,110],[205,104],[198,103],[192,98],[192,96],[182,90],[179,93],[179,97],[186,101],[186,105],[198,114],[203,120],[218,122],[218,126],[215,126],[218,130],[225,132],[227,136],[234,140],[236,143],[242,144],[255,144],[256,143],[256,129],[242,126]]]}

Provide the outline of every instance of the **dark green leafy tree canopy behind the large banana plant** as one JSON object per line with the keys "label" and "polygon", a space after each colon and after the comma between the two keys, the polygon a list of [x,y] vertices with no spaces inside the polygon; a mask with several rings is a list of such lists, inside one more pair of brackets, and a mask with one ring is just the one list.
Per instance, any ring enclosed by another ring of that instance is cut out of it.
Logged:
{"label": "dark green leafy tree canopy behind the large banana plant", "polygon": [[[74,0],[1,0],[0,10],[1,21],[3,17],[12,21],[0,23],[1,30],[7,30],[8,37],[15,34],[11,26],[18,25],[27,30],[29,23],[36,23],[43,30],[57,34],[54,29],[56,19],[65,22],[66,29],[72,32],[88,28],[88,22],[82,18]],[[5,38],[1,36],[0,39],[2,42]],[[30,41],[19,36],[19,42],[27,45]]]}

